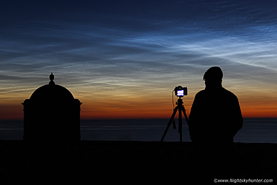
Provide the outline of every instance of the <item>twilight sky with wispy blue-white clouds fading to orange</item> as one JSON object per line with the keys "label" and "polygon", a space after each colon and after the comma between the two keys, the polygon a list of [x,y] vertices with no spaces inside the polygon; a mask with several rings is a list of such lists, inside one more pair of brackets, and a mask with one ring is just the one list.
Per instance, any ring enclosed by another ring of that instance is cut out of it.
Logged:
{"label": "twilight sky with wispy blue-white clouds fading to orange", "polygon": [[51,72],[85,117],[162,112],[177,85],[190,109],[203,73],[220,66],[244,115],[277,115],[277,1],[2,0],[0,26],[2,110],[21,114]]}

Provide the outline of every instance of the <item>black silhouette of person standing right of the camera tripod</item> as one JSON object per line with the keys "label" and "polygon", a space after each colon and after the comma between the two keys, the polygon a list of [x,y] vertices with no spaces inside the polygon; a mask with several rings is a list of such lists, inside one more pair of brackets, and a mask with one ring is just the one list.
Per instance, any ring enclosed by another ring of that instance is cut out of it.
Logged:
{"label": "black silhouette of person standing right of the camera tripod", "polygon": [[233,143],[242,128],[238,98],[222,87],[222,78],[220,67],[211,67],[204,74],[206,88],[196,94],[189,116],[193,143]]}

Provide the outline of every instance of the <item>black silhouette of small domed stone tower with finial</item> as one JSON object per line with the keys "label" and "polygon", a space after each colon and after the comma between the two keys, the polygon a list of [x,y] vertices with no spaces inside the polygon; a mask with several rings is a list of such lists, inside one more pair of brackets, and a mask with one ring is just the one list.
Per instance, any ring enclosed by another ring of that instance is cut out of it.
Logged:
{"label": "black silhouette of small domed stone tower with finial", "polygon": [[80,100],[54,82],[24,100],[24,141],[80,141]]}

